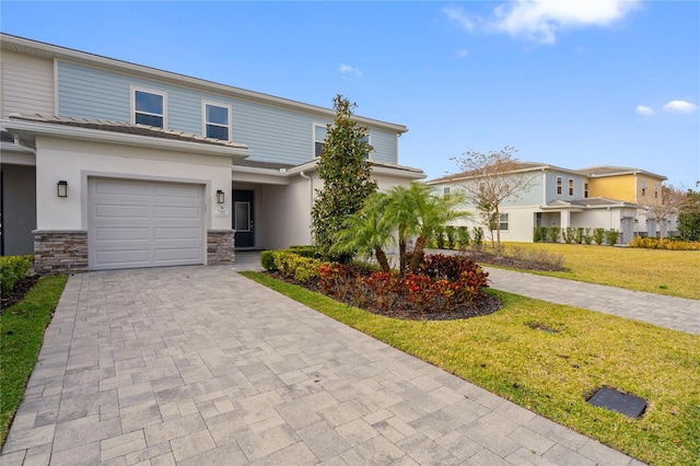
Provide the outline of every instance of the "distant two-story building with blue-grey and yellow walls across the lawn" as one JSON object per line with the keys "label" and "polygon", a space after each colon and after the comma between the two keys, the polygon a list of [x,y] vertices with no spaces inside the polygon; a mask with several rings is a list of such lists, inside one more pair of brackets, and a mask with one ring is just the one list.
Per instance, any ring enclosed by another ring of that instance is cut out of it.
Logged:
{"label": "distant two-story building with blue-grey and yellow walls across the lawn", "polygon": [[[604,182],[603,173],[606,173],[607,182]],[[630,189],[630,180],[637,179],[640,186],[644,180],[650,189],[658,184],[661,190],[661,183],[666,179],[637,168],[569,170],[536,162],[518,162],[513,174],[506,176],[526,176],[530,182],[528,189],[500,206],[501,240],[513,242],[533,242],[536,226],[571,226],[616,230],[621,232],[619,241],[627,243],[637,234],[646,234],[651,223],[644,217],[641,188],[639,193]],[[619,176],[617,182],[616,176]],[[632,177],[628,179],[628,176]],[[427,182],[443,195],[458,193],[468,183],[474,183],[474,177],[467,172]],[[653,191],[644,194],[652,196]],[[466,208],[474,215],[463,224],[481,225],[475,206]]]}

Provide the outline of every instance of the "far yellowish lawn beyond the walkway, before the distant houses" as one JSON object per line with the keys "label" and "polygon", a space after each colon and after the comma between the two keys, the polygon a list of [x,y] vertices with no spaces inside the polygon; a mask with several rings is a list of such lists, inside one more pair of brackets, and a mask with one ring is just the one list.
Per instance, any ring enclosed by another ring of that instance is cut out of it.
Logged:
{"label": "far yellowish lawn beyond the walkway, before the distant houses", "polygon": [[561,254],[569,271],[530,273],[637,291],[700,300],[700,251],[643,249],[585,244],[503,243],[513,247]]}

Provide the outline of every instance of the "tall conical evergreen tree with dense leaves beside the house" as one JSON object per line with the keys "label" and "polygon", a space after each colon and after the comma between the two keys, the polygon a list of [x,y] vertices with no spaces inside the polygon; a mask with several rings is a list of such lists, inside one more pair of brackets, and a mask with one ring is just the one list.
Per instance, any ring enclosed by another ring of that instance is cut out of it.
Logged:
{"label": "tall conical evergreen tree with dense leaves beside the house", "polygon": [[[377,185],[371,178],[368,128],[352,119],[357,104],[350,104],[338,94],[334,98],[336,119],[328,125],[317,171],[324,187],[316,190],[312,209],[312,233],[314,244],[326,258],[330,257],[332,236],[343,226],[346,218],[357,213]],[[347,259],[351,257],[334,257]]]}

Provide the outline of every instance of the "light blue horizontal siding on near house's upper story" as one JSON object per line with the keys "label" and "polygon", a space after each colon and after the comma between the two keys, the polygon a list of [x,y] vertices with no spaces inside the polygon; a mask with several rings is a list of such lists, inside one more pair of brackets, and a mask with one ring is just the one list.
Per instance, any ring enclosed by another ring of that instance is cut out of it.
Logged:
{"label": "light blue horizontal siding on near house's upper story", "polygon": [[[253,161],[293,165],[308,162],[313,155],[313,125],[332,123],[313,113],[63,61],[58,63],[59,116],[130,121],[131,86],[166,93],[167,127],[196,135],[202,130],[202,100],[231,105],[233,140],[250,148]],[[374,127],[370,127],[370,131],[374,147],[372,158],[398,163],[396,133]]]}

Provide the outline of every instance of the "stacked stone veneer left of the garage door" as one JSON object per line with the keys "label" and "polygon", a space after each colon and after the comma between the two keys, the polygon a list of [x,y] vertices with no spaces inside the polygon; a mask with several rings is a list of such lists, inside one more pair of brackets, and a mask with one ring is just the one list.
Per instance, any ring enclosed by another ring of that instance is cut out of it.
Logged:
{"label": "stacked stone veneer left of the garage door", "polygon": [[88,232],[35,230],[34,270],[37,275],[88,271]]}

